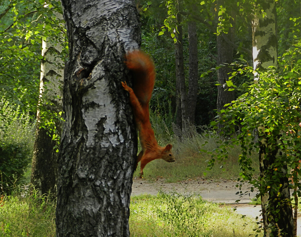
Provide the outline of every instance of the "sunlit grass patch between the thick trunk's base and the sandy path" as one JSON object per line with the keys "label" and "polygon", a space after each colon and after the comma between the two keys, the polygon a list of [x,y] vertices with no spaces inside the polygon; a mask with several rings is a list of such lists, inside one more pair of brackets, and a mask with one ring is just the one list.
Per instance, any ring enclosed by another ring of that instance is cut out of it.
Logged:
{"label": "sunlit grass patch between the thick trunk's base and the sandy path", "polygon": [[176,192],[131,198],[131,236],[234,236],[255,234],[257,226],[232,208]]}

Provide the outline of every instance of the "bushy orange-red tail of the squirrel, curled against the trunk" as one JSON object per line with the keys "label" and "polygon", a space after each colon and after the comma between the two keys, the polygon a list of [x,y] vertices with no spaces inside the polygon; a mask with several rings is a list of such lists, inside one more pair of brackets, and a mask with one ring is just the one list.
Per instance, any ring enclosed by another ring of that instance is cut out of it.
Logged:
{"label": "bushy orange-red tail of the squirrel, curled against the trunk", "polygon": [[147,106],[155,84],[155,66],[153,60],[144,52],[135,50],[126,54],[126,66],[132,71],[132,89],[141,106]]}

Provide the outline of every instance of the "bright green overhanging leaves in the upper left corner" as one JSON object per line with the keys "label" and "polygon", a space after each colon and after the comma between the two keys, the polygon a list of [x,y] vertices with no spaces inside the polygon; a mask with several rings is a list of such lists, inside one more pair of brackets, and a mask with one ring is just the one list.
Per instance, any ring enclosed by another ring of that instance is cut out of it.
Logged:
{"label": "bright green overhanging leaves in the upper left corner", "polygon": [[[19,1],[0,10],[0,96],[36,116],[42,37],[55,38],[66,48],[64,24],[55,17],[61,5],[54,0]],[[9,9],[5,12],[3,9]],[[66,53],[66,50],[64,50]]]}

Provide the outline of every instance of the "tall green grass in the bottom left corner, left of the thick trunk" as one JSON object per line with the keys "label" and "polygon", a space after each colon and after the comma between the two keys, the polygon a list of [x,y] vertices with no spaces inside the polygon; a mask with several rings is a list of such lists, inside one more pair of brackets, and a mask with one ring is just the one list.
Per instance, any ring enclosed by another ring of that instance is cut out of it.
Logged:
{"label": "tall green grass in the bottom left corner, left of the thick trunk", "polygon": [[55,204],[34,192],[2,196],[0,237],[55,236]]}

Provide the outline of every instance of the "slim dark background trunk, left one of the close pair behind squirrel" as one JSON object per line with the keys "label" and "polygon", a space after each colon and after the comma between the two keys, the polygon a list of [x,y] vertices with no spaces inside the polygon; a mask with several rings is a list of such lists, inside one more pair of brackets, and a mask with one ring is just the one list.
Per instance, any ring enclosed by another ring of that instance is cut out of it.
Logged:
{"label": "slim dark background trunk, left one of the close pair behind squirrel", "polygon": [[[183,33],[181,25],[181,14],[177,14],[178,21],[178,34],[176,36],[177,42],[175,43],[175,77],[176,77],[176,90],[180,93],[176,93],[177,100],[180,97],[180,103],[178,100],[177,111],[181,111],[181,122],[178,125],[179,128],[184,129],[185,123],[188,119],[187,113],[187,93],[185,85],[184,74],[184,56],[183,56]],[[181,106],[181,107],[180,107]],[[181,108],[181,109],[180,109]],[[178,119],[176,119],[178,121]]]}

